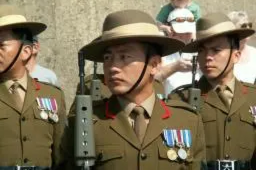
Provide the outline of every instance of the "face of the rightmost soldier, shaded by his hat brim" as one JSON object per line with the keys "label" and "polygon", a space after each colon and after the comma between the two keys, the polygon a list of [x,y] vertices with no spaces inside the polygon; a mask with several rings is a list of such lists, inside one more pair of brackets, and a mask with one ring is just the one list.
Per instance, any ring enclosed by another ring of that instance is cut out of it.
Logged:
{"label": "face of the rightmost soldier, shaded by his hat brim", "polygon": [[239,61],[240,52],[232,50],[225,36],[213,38],[199,47],[198,62],[204,76],[209,80],[217,78],[225,69],[229,56],[231,58],[227,69],[220,79],[231,79],[233,76],[233,64]]}

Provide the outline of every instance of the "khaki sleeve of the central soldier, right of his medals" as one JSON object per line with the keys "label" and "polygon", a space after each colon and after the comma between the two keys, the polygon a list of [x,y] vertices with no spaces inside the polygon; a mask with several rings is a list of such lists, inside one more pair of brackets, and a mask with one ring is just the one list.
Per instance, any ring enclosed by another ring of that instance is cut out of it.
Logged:
{"label": "khaki sleeve of the central soldier, right of his medals", "polygon": [[204,127],[201,115],[198,115],[198,117],[198,130],[194,149],[194,161],[190,169],[207,169]]}

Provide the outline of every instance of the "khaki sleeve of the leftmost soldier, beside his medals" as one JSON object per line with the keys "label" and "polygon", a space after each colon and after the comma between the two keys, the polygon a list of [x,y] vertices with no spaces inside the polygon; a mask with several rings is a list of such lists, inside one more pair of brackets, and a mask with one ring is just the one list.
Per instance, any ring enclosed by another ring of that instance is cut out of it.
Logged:
{"label": "khaki sleeve of the leftmost soldier, beside his medals", "polygon": [[58,117],[59,121],[54,125],[54,132],[53,132],[53,146],[52,146],[52,159],[53,159],[53,167],[56,168],[60,166],[63,161],[65,160],[65,153],[66,151],[64,148],[64,132],[67,128],[67,113],[66,113],[66,104],[64,94],[61,91],[60,96],[60,103],[58,105]]}

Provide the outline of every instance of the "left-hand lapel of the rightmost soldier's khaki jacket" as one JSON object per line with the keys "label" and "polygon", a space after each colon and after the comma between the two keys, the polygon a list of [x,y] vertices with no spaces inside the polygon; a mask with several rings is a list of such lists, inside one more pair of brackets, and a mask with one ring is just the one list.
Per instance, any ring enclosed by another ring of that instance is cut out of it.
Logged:
{"label": "left-hand lapel of the rightmost soldier's khaki jacket", "polygon": [[205,77],[202,77],[199,81],[199,88],[202,90],[202,96],[205,103],[208,103],[211,106],[214,106],[225,113],[228,113],[228,109],[220,100],[217,92],[212,89],[209,82],[206,80]]}

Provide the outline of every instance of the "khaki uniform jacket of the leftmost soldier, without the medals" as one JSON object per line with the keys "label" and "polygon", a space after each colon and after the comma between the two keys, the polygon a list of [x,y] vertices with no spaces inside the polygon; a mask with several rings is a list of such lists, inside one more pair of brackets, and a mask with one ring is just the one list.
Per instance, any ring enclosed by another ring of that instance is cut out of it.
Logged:
{"label": "khaki uniform jacket of the leftmost soldier, without the medals", "polygon": [[[56,99],[58,123],[40,117],[37,97]],[[24,107],[19,112],[8,89],[0,83],[0,166],[59,164],[66,122],[63,93],[56,87],[28,77]]]}

